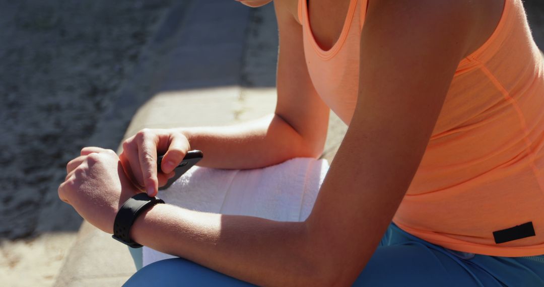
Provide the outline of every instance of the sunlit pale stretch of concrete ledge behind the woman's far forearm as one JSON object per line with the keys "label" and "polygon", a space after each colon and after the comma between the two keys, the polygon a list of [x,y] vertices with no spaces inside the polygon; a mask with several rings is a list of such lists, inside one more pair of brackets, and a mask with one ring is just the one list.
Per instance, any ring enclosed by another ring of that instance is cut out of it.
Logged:
{"label": "sunlit pale stretch of concrete ledge behind the woman's far forearm", "polygon": [[125,138],[143,128],[224,126],[274,112],[275,89],[239,86],[160,92],[134,115]]}

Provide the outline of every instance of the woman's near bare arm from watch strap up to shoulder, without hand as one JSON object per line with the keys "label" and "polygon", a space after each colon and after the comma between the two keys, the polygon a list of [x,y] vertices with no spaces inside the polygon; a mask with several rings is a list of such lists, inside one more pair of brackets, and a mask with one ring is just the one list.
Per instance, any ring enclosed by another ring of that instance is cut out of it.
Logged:
{"label": "woman's near bare arm from watch strap up to shoulder, without hand", "polygon": [[466,53],[467,2],[370,2],[355,114],[305,222],[159,204],[132,238],[258,285],[353,283],[410,185]]}

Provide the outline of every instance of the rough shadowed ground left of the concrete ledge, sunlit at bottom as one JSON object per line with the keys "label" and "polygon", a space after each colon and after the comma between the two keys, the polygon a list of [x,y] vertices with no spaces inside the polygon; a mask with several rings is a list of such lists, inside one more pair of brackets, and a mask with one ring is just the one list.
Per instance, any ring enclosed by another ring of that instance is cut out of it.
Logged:
{"label": "rough shadowed ground left of the concrete ledge, sunlit at bottom", "polygon": [[10,286],[53,283],[82,222],[55,198],[65,165],[170,5],[0,1],[0,278],[17,278]]}

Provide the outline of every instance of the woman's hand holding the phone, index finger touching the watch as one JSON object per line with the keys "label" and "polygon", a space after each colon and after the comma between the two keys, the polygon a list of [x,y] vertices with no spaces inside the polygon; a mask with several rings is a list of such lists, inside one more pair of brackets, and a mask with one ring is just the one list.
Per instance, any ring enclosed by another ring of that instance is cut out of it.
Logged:
{"label": "woman's hand holding the phone, index finger touching the watch", "polygon": [[[119,155],[128,177],[147,195],[156,196],[158,187],[174,176],[174,169],[189,151],[189,140],[176,129],[143,129],[123,142]],[[157,153],[164,154],[157,173]]]}

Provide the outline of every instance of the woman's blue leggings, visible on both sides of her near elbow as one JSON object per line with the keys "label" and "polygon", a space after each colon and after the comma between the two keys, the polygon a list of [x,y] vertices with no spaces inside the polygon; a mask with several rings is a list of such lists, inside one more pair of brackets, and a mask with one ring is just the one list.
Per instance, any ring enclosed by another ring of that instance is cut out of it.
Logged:
{"label": "woman's blue leggings, visible on both sides of her near elbow", "polygon": [[[175,258],[145,266],[123,286],[253,285]],[[497,257],[453,251],[391,223],[353,286],[544,286],[544,255]]]}

